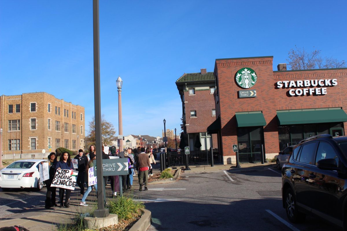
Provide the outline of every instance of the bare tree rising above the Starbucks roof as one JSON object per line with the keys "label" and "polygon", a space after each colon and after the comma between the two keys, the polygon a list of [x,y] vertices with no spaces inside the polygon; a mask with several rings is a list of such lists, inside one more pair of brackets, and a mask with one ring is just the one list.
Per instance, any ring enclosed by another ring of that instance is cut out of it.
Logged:
{"label": "bare tree rising above the Starbucks roof", "polygon": [[[314,47],[313,47],[314,49]],[[338,61],[332,57],[321,57],[321,50],[314,49],[313,51],[306,51],[305,48],[291,49],[288,52],[288,65],[291,70],[307,70],[317,68],[342,68],[346,66],[345,60]]]}

